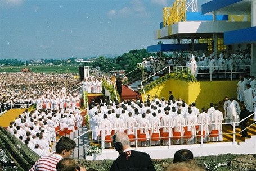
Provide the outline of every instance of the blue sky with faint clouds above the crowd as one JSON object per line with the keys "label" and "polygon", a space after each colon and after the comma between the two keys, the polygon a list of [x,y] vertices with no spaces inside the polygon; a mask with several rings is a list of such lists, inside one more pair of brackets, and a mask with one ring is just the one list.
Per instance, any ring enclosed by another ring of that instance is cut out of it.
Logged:
{"label": "blue sky with faint clouds above the crowd", "polygon": [[[198,0],[201,4],[209,0]],[[157,44],[173,0],[0,0],[0,59],[123,54]],[[163,41],[171,43],[171,41]]]}

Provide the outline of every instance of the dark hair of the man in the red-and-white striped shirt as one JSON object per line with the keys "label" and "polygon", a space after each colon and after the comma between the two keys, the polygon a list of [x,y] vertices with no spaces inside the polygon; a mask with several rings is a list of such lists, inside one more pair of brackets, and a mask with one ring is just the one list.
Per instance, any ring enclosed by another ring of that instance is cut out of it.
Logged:
{"label": "dark hair of the man in the red-and-white striped shirt", "polygon": [[75,141],[71,140],[69,137],[61,137],[56,144],[56,153],[61,154],[63,150],[72,150],[77,146]]}

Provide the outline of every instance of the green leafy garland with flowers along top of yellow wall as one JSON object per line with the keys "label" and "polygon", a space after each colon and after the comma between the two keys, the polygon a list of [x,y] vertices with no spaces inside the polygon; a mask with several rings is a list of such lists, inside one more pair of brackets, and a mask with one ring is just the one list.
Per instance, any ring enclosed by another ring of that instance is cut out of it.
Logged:
{"label": "green leafy garland with flowers along top of yellow wall", "polygon": [[[158,80],[155,80],[155,81],[151,82],[150,84],[146,85],[144,87],[145,92],[152,90],[152,89],[154,89],[154,87],[163,84],[165,81],[169,80],[170,78],[175,78],[178,80],[183,80],[183,81],[188,81],[188,82],[196,81],[196,78],[190,72],[187,72],[186,70],[173,72],[173,73],[166,74],[165,76],[160,77]],[[140,91],[141,91],[141,93],[143,93],[142,90],[140,90]]]}

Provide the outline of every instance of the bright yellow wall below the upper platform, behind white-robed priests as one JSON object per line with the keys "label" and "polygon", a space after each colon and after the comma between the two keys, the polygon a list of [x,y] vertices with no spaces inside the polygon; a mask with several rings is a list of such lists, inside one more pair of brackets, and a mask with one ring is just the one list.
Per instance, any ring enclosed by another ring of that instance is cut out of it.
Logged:
{"label": "bright yellow wall below the upper platform, behind white-robed priests", "polygon": [[[146,92],[151,96],[158,95],[159,99],[164,97],[165,100],[169,98],[169,91],[172,91],[175,98],[182,98],[187,104],[196,103],[196,107],[201,111],[202,107],[208,108],[211,102],[218,103],[223,100],[225,96],[228,98],[237,98],[236,81],[199,81],[189,83],[186,81],[170,79],[165,84],[157,86],[154,89]],[[144,96],[142,95],[143,101]]]}

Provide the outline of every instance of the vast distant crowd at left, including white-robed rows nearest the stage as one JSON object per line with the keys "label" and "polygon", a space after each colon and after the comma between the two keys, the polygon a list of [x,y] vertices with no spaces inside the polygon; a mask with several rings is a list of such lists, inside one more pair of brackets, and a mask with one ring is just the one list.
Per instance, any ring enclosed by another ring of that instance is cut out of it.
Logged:
{"label": "vast distant crowd at left, including white-robed rows nearest the stage", "polygon": [[65,103],[72,103],[73,109],[79,99],[77,92],[69,93],[79,83],[72,74],[44,73],[0,73],[0,107],[27,108],[37,104],[37,109],[47,105],[52,109],[64,109]]}

